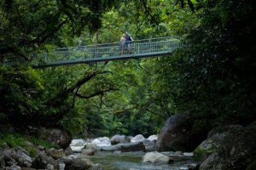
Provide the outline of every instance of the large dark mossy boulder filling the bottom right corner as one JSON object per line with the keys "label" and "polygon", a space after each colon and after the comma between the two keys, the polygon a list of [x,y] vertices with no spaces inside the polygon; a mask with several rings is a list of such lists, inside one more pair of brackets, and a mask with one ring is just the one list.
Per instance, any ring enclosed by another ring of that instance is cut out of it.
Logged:
{"label": "large dark mossy boulder filling the bottom right corner", "polygon": [[[218,139],[212,142],[214,149],[212,154],[201,164],[201,170],[239,170],[246,169],[247,166],[256,160],[256,122],[247,127],[230,126],[228,128],[218,128],[210,134],[210,139]],[[220,129],[220,130],[219,130]],[[209,141],[209,139],[207,139]],[[197,150],[207,149],[204,141]]]}

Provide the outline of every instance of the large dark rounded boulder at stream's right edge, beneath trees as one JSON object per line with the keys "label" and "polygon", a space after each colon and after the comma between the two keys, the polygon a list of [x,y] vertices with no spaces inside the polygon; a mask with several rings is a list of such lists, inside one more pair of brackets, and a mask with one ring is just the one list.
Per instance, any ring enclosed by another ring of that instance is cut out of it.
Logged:
{"label": "large dark rounded boulder at stream's right edge, beneath trees", "polygon": [[169,117],[162,128],[157,142],[158,151],[193,151],[206,139],[207,132],[194,131],[193,117],[189,112]]}

